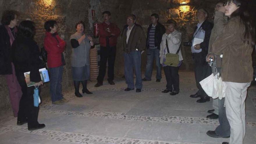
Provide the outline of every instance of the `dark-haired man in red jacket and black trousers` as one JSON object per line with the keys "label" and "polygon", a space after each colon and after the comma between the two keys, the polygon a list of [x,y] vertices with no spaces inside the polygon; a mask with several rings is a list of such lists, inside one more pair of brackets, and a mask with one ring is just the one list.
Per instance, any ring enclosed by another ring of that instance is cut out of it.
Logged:
{"label": "dark-haired man in red jacket and black trousers", "polygon": [[106,63],[108,61],[108,81],[109,84],[114,85],[114,64],[116,54],[117,37],[120,34],[120,29],[117,25],[110,22],[111,13],[104,11],[102,13],[104,22],[99,24],[99,43],[100,43],[100,65],[99,75],[95,87],[102,86],[104,76],[106,73]]}

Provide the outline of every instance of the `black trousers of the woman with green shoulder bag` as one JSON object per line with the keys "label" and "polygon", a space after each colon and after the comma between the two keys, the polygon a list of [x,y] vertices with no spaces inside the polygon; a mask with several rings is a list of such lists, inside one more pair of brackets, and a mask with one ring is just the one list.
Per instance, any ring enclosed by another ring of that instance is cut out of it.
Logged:
{"label": "black trousers of the woman with green shoulder bag", "polygon": [[163,67],[166,77],[166,89],[179,92],[179,67],[165,66]]}

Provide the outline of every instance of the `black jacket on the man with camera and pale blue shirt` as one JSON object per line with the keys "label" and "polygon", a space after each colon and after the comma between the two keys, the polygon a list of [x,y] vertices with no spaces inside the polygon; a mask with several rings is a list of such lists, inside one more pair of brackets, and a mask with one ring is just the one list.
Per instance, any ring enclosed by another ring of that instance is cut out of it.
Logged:
{"label": "black jacket on the man with camera and pale blue shirt", "polygon": [[[204,41],[200,43],[200,47],[202,49],[202,58],[201,62],[203,65],[207,65],[207,62],[205,61],[205,58],[208,54],[208,47],[209,47],[209,40],[211,37],[211,29],[213,28],[213,24],[209,22],[207,19],[202,23],[201,25],[202,29],[205,31],[205,38]],[[195,31],[197,30],[197,26],[195,27]],[[194,33],[195,33],[194,31]]]}

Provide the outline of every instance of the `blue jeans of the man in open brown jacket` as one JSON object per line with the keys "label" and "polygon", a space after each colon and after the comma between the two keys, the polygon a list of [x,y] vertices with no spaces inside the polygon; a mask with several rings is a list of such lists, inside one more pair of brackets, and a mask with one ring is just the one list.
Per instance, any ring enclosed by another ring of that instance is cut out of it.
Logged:
{"label": "blue jeans of the man in open brown jacket", "polygon": [[125,52],[125,82],[128,88],[134,88],[133,81],[133,67],[136,75],[135,87],[138,89],[142,88],[141,78],[141,51],[131,51],[129,54]]}

